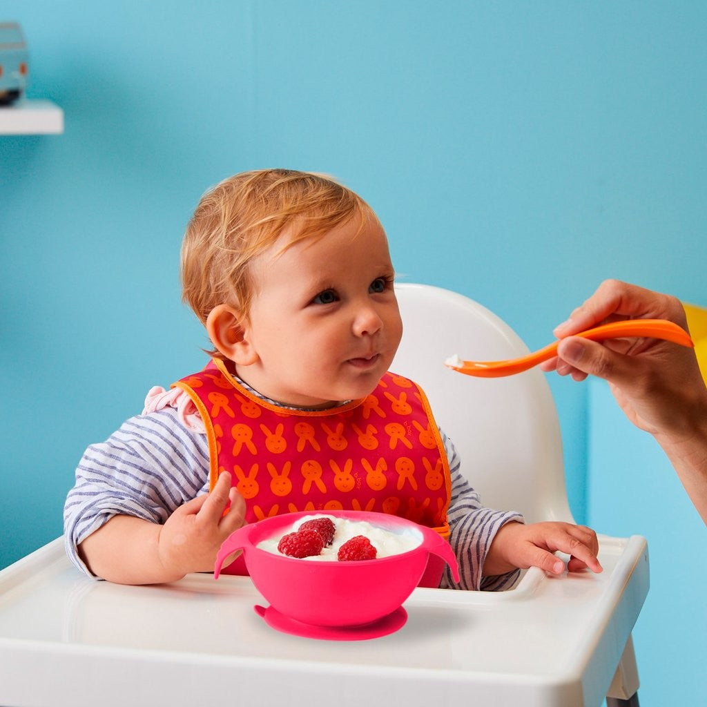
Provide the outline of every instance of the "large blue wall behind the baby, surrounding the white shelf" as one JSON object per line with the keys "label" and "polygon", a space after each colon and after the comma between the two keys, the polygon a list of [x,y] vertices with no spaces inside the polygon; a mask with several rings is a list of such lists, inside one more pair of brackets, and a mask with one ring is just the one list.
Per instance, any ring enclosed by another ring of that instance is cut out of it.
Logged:
{"label": "large blue wall behind the baby, surrounding the white shelf", "polygon": [[[232,173],[336,175],[378,211],[404,279],[476,298],[531,348],[607,276],[707,305],[700,0],[13,13],[30,96],[66,131],[0,137],[0,566],[61,533],[86,445],[201,364],[178,250]],[[550,380],[584,520],[586,389]]]}

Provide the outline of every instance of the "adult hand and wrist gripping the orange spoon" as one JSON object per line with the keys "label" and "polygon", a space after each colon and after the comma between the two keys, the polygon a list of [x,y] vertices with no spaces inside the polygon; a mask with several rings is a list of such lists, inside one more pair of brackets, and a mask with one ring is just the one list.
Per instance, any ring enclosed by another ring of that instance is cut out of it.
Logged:
{"label": "adult hand and wrist gripping the orange spoon", "polygon": [[622,319],[667,319],[686,329],[677,298],[607,280],[556,327],[557,357],[541,367],[575,380],[607,380],[626,417],[658,441],[707,523],[707,387],[694,350],[661,339],[599,343],[572,336]]}

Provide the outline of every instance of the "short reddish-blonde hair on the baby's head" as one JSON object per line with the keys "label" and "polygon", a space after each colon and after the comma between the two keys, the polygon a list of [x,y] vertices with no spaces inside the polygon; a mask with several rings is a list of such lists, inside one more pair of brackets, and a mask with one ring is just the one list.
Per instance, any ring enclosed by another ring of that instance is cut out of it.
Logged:
{"label": "short reddish-blonde hair on the baby's head", "polygon": [[331,177],[295,170],[258,170],[210,189],[182,243],[182,300],[199,320],[230,303],[247,317],[253,295],[249,264],[292,227],[287,246],[321,238],[352,218],[375,218],[358,194]]}

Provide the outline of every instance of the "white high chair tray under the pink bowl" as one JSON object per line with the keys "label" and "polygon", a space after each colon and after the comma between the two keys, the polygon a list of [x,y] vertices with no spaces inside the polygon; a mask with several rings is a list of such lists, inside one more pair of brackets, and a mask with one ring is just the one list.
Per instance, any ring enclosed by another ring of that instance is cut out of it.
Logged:
{"label": "white high chair tray under the pink bowl", "polygon": [[0,572],[0,704],[598,707],[648,592],[645,539],[600,543],[600,575],[416,589],[398,631],[319,641],[272,629],[250,578],[98,582],[57,539]]}

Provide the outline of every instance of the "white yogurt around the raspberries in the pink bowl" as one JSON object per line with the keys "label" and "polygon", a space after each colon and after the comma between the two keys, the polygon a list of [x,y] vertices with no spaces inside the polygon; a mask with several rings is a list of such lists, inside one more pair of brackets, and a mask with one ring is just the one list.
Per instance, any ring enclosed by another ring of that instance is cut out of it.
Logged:
{"label": "white yogurt around the raspberries in the pink bowl", "polygon": [[336,560],[341,545],[352,537],[356,537],[356,535],[363,535],[370,540],[370,544],[378,551],[376,559],[413,550],[422,542],[421,532],[415,530],[414,527],[403,527],[399,532],[393,532],[392,530],[385,530],[385,528],[371,525],[366,520],[335,518],[333,515],[320,513],[317,515],[305,515],[280,534],[261,540],[257,547],[276,555],[282,555],[283,553],[277,549],[280,539],[288,533],[296,532],[303,522],[312,520],[312,518],[331,518],[334,523],[334,540],[329,547],[322,549],[322,554],[303,557],[303,560]]}

